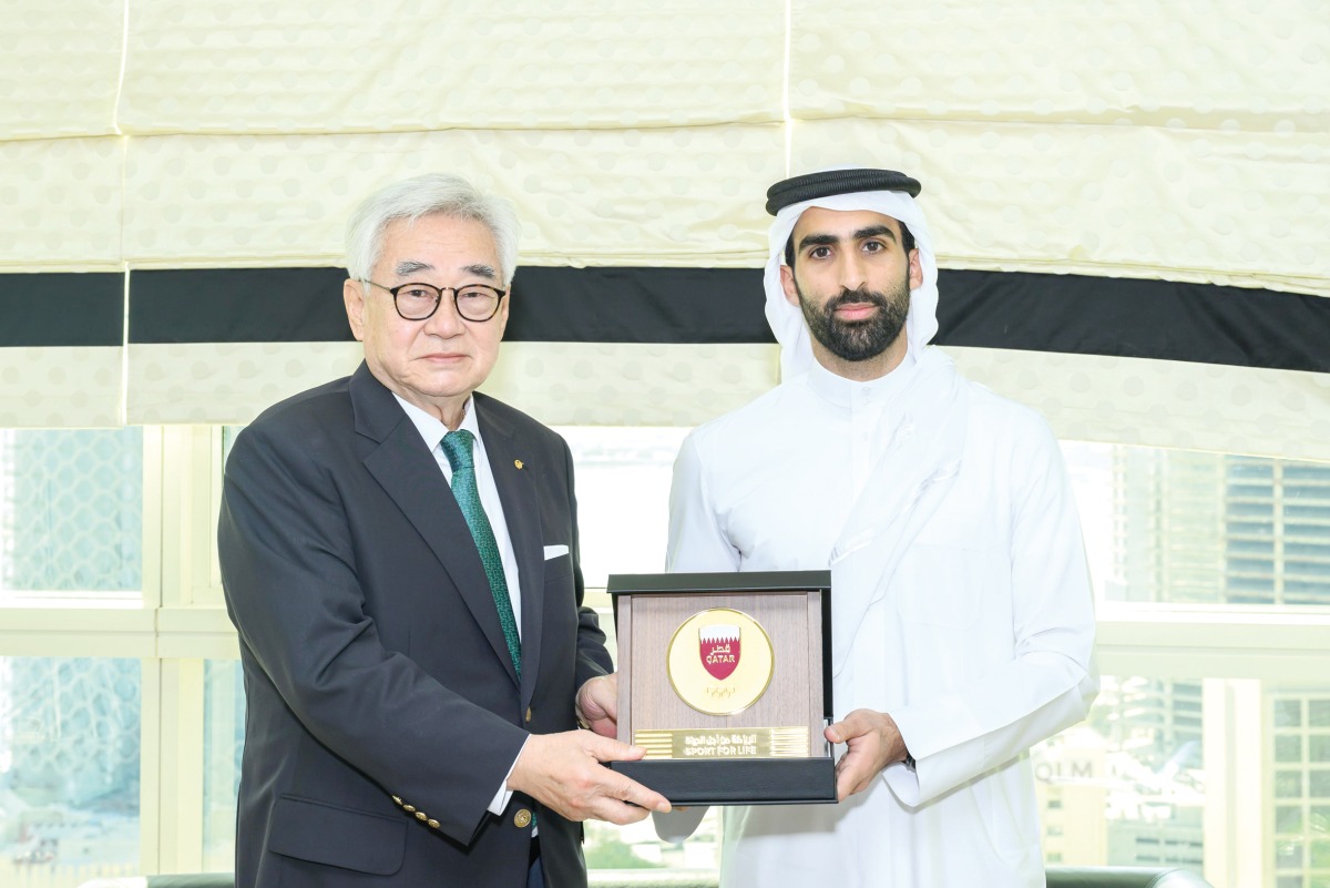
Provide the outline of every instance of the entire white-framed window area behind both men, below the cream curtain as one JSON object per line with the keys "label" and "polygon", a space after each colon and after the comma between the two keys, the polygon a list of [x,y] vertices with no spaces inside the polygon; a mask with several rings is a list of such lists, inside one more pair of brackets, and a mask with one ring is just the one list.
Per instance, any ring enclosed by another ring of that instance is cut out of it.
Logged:
{"label": "entire white-framed window area behind both men, below the cream curtain", "polygon": [[[214,540],[234,431],[0,429],[0,884],[45,888],[39,860],[63,873],[51,888],[230,868],[243,689]],[[605,577],[661,569],[685,429],[561,431],[609,627]],[[1107,678],[1088,722],[1032,755],[1047,859],[1330,881],[1330,689],[1307,683],[1330,674],[1330,521],[1290,509],[1330,506],[1330,467],[1064,455]],[[670,845],[649,823],[588,824],[588,860],[705,880],[717,827]]]}

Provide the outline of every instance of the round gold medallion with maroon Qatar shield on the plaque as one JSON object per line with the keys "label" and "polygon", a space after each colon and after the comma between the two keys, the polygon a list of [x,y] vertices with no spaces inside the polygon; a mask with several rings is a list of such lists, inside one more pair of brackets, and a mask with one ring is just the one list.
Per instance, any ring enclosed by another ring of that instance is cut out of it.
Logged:
{"label": "round gold medallion with maroon Qatar shield on the plaque", "polygon": [[693,614],[665,649],[674,693],[708,715],[733,715],[755,703],[771,683],[774,665],[766,630],[729,608]]}

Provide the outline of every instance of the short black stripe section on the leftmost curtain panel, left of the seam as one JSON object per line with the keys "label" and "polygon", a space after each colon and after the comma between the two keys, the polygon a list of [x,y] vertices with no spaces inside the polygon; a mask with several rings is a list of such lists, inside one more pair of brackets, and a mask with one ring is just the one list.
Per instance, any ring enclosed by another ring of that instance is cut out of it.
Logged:
{"label": "short black stripe section on the leftmost curtain panel, left of the seam", "polygon": [[0,348],[114,347],[124,339],[124,274],[0,274]]}

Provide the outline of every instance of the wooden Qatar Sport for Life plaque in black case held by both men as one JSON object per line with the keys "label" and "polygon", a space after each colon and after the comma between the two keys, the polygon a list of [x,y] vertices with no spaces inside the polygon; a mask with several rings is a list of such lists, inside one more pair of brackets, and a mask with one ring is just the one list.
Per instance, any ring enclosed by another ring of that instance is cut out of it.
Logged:
{"label": "wooden Qatar Sport for Life plaque in black case held by both men", "polygon": [[618,739],[609,767],[672,804],[835,802],[831,574],[610,574]]}

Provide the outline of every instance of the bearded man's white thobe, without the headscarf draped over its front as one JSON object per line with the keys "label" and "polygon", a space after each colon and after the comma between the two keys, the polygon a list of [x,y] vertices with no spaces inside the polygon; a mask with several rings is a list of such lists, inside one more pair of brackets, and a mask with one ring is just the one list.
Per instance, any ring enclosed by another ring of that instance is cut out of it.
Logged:
{"label": "bearded man's white thobe, without the headscarf draped over its front", "polygon": [[694,429],[676,461],[668,568],[831,568],[834,625],[838,601],[868,602],[835,665],[835,717],[890,713],[916,759],[841,804],[725,810],[725,888],[1044,884],[1028,748],[1084,718],[1097,691],[1084,545],[1052,433],[960,380],[959,473],[890,580],[854,588],[872,581],[833,564],[851,506],[875,495],[914,372],[854,383],[814,366]]}

